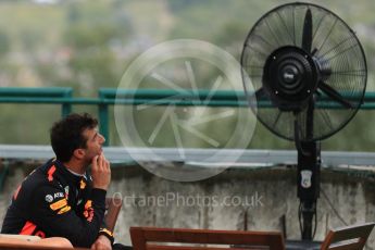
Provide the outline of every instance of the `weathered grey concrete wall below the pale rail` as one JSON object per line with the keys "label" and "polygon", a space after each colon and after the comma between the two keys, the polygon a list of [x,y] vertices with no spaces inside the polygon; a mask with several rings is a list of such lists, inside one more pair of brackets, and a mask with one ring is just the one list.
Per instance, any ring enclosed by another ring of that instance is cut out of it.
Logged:
{"label": "weathered grey concrete wall below the pale rail", "polygon": [[[11,166],[0,197],[0,217],[30,170],[22,164]],[[196,183],[165,180],[138,166],[114,166],[112,173],[109,196],[124,199],[115,229],[123,243],[130,243],[130,226],[282,230],[283,215],[287,238],[300,238],[293,167],[229,168]],[[323,171],[315,239],[322,240],[330,227],[343,223],[375,221],[374,184],[370,177]],[[367,246],[375,249],[375,233]]]}

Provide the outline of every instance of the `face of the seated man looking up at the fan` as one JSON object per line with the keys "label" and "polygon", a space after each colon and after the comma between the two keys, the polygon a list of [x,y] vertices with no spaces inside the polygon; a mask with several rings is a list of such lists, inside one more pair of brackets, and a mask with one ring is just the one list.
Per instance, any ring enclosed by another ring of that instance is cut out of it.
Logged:
{"label": "face of the seated man looking up at the fan", "polygon": [[87,139],[85,150],[85,160],[89,164],[92,158],[102,153],[102,145],[105,138],[98,133],[97,128],[86,128],[84,130],[84,137]]}

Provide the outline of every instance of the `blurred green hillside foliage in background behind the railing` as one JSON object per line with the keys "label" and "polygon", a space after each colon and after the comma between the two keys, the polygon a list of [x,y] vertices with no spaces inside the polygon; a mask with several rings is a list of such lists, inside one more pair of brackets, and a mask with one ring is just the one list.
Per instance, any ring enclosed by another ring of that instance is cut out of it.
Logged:
{"label": "blurred green hillside foliage in background behind the railing", "polygon": [[[116,88],[134,59],[166,40],[184,38],[209,41],[239,60],[243,40],[257,20],[271,9],[289,1],[38,2],[0,1],[0,87],[65,86],[73,87],[78,97],[95,97],[101,87]],[[358,32],[368,62],[367,89],[374,91],[375,1],[309,2],[326,7]],[[204,83],[197,82],[199,88],[209,88],[213,84],[209,80],[212,71],[207,72],[199,78],[204,79]],[[184,74],[174,70],[172,76],[187,80]],[[96,110],[95,107],[74,108],[77,112],[89,111],[97,114]],[[48,143],[49,126],[59,117],[59,112],[58,107],[0,104],[0,143]],[[188,112],[193,114],[190,109]],[[360,111],[343,130],[323,141],[323,150],[373,151],[374,112]],[[162,114],[163,111],[155,111],[149,115],[137,116],[135,121],[139,126],[157,124],[158,116]],[[121,145],[113,113],[110,117],[111,142]],[[218,138],[232,133],[233,127],[229,124],[233,124],[233,121],[211,122],[202,132],[212,130]],[[152,134],[152,129],[147,126],[140,130],[147,135]],[[163,139],[158,140],[159,146],[176,145],[172,130],[172,127],[164,127],[160,135]],[[191,134],[184,134],[183,138],[191,139]],[[204,143],[193,145],[207,147]],[[263,149],[293,147],[292,142],[277,138],[259,123],[249,145],[249,148]]]}

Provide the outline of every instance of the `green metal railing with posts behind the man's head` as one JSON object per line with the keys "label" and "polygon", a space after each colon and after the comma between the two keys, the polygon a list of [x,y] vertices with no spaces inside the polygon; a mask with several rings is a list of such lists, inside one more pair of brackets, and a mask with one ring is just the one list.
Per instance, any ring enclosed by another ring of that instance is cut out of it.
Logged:
{"label": "green metal railing with posts behind the man's head", "polygon": [[[107,138],[109,145],[109,107],[124,105],[170,105],[178,107],[242,107],[249,105],[242,91],[233,90],[171,90],[171,89],[114,89],[101,88],[97,98],[73,97],[72,88],[0,88],[0,103],[50,103],[61,104],[62,116],[72,112],[74,104],[90,104],[98,107],[100,133]],[[326,96],[320,97],[316,107],[325,109],[342,109]],[[272,108],[270,101],[261,101],[258,108]],[[375,109],[375,92],[366,92],[361,109]]]}

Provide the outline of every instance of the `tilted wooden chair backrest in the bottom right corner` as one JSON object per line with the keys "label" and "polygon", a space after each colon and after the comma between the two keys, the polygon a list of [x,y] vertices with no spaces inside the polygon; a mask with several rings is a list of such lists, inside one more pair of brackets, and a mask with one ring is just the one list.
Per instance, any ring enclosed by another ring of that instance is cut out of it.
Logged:
{"label": "tilted wooden chair backrest in the bottom right corner", "polygon": [[321,250],[362,250],[375,223],[358,224],[329,230]]}

